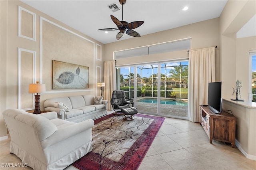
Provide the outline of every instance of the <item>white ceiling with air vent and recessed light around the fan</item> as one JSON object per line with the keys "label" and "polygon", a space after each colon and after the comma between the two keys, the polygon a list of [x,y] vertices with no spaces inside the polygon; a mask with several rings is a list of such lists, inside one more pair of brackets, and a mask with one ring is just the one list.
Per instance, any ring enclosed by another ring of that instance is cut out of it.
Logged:
{"label": "white ceiling with air vent and recessed light around the fan", "polygon": [[[128,38],[124,34],[116,40],[119,31],[99,31],[101,28],[117,28],[112,14],[122,20],[119,0],[21,0],[64,24],[90,36],[101,43],[111,43]],[[134,29],[141,36],[180,26],[218,18],[227,0],[127,0],[124,5],[124,21],[144,21]],[[112,12],[108,5],[116,3],[120,10]],[[187,11],[182,11],[188,6]]]}

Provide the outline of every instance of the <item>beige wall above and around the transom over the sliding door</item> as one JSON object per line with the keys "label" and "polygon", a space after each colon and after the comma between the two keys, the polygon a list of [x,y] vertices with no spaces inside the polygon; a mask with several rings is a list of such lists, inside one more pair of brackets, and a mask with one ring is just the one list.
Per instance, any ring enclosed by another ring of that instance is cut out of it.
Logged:
{"label": "beige wall above and around the transom over the sliding door", "polygon": [[[128,36],[128,35],[124,35]],[[199,49],[205,47],[218,46],[216,48],[216,62],[219,62],[219,18],[206,20],[179,28],[174,28],[154,34],[148,34],[141,38],[132,38],[121,40],[114,43],[105,44],[105,60],[113,60],[113,51],[142,47],[157,43],[181,40],[184,38],[192,38],[191,48]],[[160,53],[154,55],[144,55],[139,57],[117,59],[116,65],[127,65],[131,63],[145,63],[152,61],[168,61],[171,59],[188,58],[188,50],[174,51],[170,53]],[[216,75],[218,79],[218,64]]]}

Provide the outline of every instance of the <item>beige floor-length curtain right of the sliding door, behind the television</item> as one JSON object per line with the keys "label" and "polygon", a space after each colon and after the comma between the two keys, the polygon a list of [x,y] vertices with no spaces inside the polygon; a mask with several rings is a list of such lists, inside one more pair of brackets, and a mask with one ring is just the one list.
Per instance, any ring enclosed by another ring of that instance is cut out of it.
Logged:
{"label": "beige floor-length curtain right of the sliding door, behind the television", "polygon": [[208,83],[215,82],[215,47],[190,50],[188,68],[188,117],[199,122],[199,105],[207,105]]}

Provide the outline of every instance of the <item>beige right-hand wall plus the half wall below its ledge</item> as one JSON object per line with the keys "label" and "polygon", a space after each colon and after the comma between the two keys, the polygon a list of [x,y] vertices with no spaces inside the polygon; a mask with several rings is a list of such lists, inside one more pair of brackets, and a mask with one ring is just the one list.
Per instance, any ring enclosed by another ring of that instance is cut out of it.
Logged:
{"label": "beige right-hand wall plus the half wall below its ledge", "polygon": [[224,110],[237,117],[236,145],[250,159],[256,160],[256,109],[230,102],[236,80],[242,82],[241,99],[248,101],[249,51],[256,50],[256,37],[236,38],[236,32],[256,14],[256,1],[228,1],[220,16],[220,78]]}

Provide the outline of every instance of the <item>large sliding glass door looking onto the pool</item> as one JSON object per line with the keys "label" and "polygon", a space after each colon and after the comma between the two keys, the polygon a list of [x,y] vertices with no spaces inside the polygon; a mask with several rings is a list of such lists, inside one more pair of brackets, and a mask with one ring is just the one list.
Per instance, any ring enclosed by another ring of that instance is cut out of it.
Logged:
{"label": "large sliding glass door looking onto the pool", "polygon": [[117,73],[118,89],[134,99],[139,113],[188,119],[188,61],[120,67]]}

